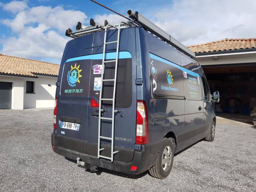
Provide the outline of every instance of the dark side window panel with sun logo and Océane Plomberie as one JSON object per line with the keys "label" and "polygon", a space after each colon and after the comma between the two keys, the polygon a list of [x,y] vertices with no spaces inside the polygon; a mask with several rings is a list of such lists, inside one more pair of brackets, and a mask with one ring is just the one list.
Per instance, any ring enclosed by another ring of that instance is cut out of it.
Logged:
{"label": "dark side window panel with sun logo and Oc\u00e9ane Plomberie", "polygon": [[149,57],[154,94],[184,97],[180,65],[152,53]]}

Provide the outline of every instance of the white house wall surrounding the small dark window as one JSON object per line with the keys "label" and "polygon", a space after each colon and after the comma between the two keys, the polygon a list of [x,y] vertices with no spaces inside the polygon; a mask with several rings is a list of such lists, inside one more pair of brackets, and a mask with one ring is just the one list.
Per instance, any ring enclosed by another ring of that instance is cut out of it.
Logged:
{"label": "white house wall surrounding the small dark window", "polygon": [[[34,93],[26,93],[26,81],[34,81]],[[24,78],[24,109],[53,108],[57,77],[38,76],[38,78]],[[51,86],[49,86],[50,84]]]}

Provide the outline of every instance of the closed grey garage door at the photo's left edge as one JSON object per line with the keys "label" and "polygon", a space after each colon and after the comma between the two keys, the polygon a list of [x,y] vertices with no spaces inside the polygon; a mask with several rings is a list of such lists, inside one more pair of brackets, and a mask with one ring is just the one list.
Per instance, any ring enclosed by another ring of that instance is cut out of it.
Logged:
{"label": "closed grey garage door at the photo's left edge", "polygon": [[12,108],[12,83],[0,82],[0,109]]}

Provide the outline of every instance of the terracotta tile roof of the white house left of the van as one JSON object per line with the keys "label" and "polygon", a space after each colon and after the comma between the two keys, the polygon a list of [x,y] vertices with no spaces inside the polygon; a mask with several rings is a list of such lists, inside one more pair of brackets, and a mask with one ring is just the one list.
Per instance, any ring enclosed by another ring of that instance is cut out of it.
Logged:
{"label": "terracotta tile roof of the white house left of the van", "polygon": [[36,74],[58,76],[60,65],[0,54],[0,74],[36,77]]}

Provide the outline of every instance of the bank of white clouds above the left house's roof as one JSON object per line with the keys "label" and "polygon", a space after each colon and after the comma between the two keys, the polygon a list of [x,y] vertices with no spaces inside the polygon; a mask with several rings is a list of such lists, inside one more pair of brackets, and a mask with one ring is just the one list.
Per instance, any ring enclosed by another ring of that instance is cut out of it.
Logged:
{"label": "bank of white clouds above the left house's roof", "polygon": [[62,7],[37,6],[18,12],[13,19],[2,23],[12,28],[14,36],[4,40],[1,53],[60,62],[69,37],[65,30],[84,21],[87,16],[80,11],[64,10]]}

